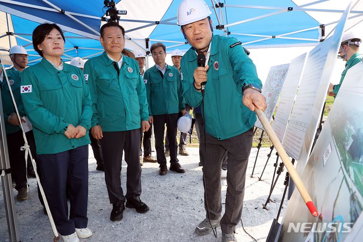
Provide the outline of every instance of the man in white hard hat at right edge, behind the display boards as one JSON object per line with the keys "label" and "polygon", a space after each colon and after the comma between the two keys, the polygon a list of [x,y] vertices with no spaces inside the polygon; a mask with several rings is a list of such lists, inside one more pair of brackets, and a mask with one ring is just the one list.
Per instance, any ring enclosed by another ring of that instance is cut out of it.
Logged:
{"label": "man in white hard hat at right edge, behind the display boards", "polygon": [[328,90],[329,96],[336,97],[347,71],[362,61],[363,54],[359,53],[359,45],[361,44],[361,41],[362,39],[357,37],[356,33],[346,32],[343,34],[338,57],[341,57],[343,61],[346,62],[345,69],[341,75],[339,84],[333,85],[330,83]]}

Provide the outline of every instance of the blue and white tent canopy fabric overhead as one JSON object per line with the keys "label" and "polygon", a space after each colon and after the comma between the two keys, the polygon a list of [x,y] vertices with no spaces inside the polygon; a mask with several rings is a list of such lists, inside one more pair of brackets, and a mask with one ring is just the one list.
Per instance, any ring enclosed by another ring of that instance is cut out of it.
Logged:
{"label": "blue and white tent canopy fabric overhead", "polygon": [[[256,0],[253,6],[248,0],[206,0],[206,3],[212,12],[214,34],[235,37],[246,48],[266,48],[318,44],[333,30],[334,20],[339,19],[348,4],[348,1],[337,1]],[[354,4],[351,26],[363,20],[361,2]],[[176,24],[180,0],[122,0],[116,3],[117,10],[127,10],[127,15],[120,15],[119,21],[126,30],[126,48],[147,52],[155,42],[163,42],[167,52],[175,48],[186,51],[190,47]],[[339,8],[329,9],[330,6]],[[10,46],[22,44],[30,54],[30,63],[39,61],[31,34],[44,22],[57,23],[65,31],[67,40],[63,58],[66,60],[75,56],[89,58],[103,50],[98,41],[100,26],[105,23],[101,21],[106,12],[103,0],[0,0],[0,11],[9,13],[8,21],[1,22],[0,48],[3,53]],[[335,17],[330,16],[330,22],[325,22],[320,18],[325,13]],[[9,29],[4,23],[9,23]]]}

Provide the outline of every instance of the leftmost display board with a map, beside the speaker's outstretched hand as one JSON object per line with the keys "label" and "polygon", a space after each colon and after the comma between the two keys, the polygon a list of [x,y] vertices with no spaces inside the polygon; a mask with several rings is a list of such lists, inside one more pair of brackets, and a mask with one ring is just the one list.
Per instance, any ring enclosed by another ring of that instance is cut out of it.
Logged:
{"label": "leftmost display board with a map, beside the speaker's outstretched hand", "polygon": [[[278,98],[285,82],[288,67],[289,64],[271,67],[266,78],[266,82],[262,87],[262,95],[266,97],[267,104],[267,108],[264,113],[268,120],[271,120],[276,108]],[[261,130],[265,130],[260,122],[260,119],[257,119],[255,126]]]}

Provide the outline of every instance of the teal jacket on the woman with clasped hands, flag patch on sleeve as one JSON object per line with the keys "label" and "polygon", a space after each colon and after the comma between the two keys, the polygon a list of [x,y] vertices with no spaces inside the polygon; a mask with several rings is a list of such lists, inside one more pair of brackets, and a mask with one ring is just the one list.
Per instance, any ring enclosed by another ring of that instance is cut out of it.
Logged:
{"label": "teal jacket on the woman with clasped hands, flag patch on sleeve", "polygon": [[[83,73],[63,64],[58,71],[45,58],[22,72],[20,93],[33,125],[37,154],[55,154],[90,144],[92,102]],[[69,124],[87,133],[76,139],[64,134]]]}

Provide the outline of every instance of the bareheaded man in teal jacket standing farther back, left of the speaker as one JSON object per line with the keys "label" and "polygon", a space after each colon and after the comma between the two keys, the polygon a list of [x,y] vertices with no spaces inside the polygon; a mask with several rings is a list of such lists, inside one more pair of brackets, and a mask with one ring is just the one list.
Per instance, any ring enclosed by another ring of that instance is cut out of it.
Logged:
{"label": "bareheaded man in teal jacket standing farther back, left of the speaker", "polygon": [[177,145],[175,141],[178,112],[187,113],[183,102],[183,87],[179,71],[175,67],[166,65],[165,45],[154,43],[150,51],[155,66],[144,74],[146,94],[149,104],[150,123],[154,124],[156,159],[160,164],[159,175],[167,172],[166,157],[164,154],[164,127],[169,140],[170,170],[184,173],[177,159]]}

